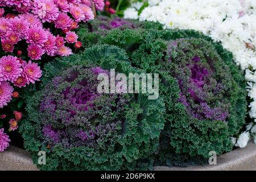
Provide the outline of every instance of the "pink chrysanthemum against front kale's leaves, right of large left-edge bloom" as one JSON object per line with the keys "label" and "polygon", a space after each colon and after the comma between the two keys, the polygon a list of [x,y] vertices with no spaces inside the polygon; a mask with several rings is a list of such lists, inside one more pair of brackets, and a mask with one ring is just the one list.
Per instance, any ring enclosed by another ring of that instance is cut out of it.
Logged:
{"label": "pink chrysanthemum against front kale's leaves, right of large left-edge bloom", "polygon": [[27,84],[35,84],[35,81],[39,81],[42,76],[42,71],[37,63],[32,63],[31,60],[23,67],[22,76],[26,78]]}

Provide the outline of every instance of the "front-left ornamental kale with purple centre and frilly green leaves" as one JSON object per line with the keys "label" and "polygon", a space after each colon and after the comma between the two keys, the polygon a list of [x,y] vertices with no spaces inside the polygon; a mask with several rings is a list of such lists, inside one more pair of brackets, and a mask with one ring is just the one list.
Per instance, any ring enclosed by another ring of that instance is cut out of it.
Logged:
{"label": "front-left ornamental kale with purple centre and frilly green leaves", "polygon": [[[107,55],[92,53],[105,48]],[[89,64],[89,55],[98,57],[99,63]],[[87,60],[80,61],[81,57]],[[98,93],[99,73],[109,74],[109,67],[131,68],[114,57],[125,62],[127,56],[113,46],[96,46],[46,65],[44,88],[28,98],[28,118],[20,126],[24,147],[35,163],[38,151],[46,151],[46,165],[39,168],[152,169],[150,158],[164,127],[164,104],[142,94]],[[108,59],[110,64],[101,64]]]}

